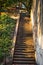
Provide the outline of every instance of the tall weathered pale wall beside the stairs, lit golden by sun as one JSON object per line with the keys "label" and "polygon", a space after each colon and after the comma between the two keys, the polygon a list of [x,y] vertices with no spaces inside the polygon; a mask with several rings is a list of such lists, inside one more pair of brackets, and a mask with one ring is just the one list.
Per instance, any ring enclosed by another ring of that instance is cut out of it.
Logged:
{"label": "tall weathered pale wall beside the stairs, lit golden by sun", "polygon": [[33,0],[31,21],[33,25],[33,39],[35,59],[38,65],[43,65],[43,0]]}

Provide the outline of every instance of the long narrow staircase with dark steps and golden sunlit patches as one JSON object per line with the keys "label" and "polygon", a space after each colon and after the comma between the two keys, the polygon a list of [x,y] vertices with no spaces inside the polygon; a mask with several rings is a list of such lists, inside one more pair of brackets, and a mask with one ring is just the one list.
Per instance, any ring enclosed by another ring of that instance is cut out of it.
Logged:
{"label": "long narrow staircase with dark steps and golden sunlit patches", "polygon": [[21,14],[12,65],[36,65],[31,21]]}

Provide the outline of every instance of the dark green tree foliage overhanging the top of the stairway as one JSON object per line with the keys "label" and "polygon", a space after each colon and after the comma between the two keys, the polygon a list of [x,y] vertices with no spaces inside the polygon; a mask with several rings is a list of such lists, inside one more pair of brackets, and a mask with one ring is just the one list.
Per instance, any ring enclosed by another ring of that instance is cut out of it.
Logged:
{"label": "dark green tree foliage overhanging the top of the stairway", "polygon": [[15,4],[18,2],[23,3],[26,6],[27,10],[31,8],[32,0],[0,0],[0,9],[2,9],[3,7],[8,7],[8,6],[11,7],[12,4]]}

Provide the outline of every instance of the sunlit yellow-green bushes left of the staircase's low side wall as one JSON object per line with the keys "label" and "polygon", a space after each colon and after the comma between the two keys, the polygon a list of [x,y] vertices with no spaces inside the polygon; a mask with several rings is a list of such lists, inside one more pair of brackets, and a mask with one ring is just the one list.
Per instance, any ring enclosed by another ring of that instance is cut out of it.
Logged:
{"label": "sunlit yellow-green bushes left of the staircase's low side wall", "polygon": [[8,15],[0,16],[0,62],[5,54],[9,55],[12,48],[12,31],[14,30],[16,21]]}

